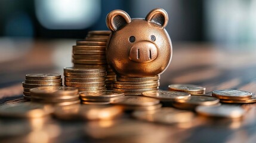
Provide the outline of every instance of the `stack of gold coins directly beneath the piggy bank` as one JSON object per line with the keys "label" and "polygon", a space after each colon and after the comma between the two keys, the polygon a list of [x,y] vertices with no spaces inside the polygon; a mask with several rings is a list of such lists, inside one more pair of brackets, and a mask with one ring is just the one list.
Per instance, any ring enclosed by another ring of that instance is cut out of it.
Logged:
{"label": "stack of gold coins directly beneath the piggy bank", "polygon": [[160,85],[160,76],[152,77],[116,77],[113,90],[122,91],[125,95],[141,95],[146,91],[156,91]]}

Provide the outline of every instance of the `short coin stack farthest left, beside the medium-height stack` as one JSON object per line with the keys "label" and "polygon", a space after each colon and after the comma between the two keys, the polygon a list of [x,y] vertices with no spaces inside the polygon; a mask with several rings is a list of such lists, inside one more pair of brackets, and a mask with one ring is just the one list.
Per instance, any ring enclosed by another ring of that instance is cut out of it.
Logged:
{"label": "short coin stack farthest left, beside the medium-height stack", "polygon": [[62,86],[60,74],[54,73],[32,73],[26,74],[23,84],[23,97],[26,100],[31,99],[30,89],[45,86]]}

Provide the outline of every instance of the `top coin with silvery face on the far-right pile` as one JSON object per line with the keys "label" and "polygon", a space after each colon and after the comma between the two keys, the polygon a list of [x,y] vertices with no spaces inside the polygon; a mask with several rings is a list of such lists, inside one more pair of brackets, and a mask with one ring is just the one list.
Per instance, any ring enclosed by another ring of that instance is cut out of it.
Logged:
{"label": "top coin with silvery face on the far-right pile", "polygon": [[235,89],[224,89],[212,91],[212,97],[217,97],[221,100],[249,100],[252,97],[252,93]]}

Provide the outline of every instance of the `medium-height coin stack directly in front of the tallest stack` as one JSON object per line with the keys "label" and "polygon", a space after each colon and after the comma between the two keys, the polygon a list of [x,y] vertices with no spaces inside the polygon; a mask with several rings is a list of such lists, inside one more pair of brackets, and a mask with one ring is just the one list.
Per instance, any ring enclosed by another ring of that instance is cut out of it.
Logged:
{"label": "medium-height coin stack directly in front of the tallest stack", "polygon": [[78,91],[103,90],[105,88],[105,68],[64,68],[64,80],[66,86],[78,88]]}

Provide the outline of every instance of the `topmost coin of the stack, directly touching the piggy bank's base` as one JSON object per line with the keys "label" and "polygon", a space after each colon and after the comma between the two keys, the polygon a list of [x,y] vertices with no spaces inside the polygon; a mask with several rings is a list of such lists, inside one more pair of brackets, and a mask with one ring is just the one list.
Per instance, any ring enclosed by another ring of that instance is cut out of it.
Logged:
{"label": "topmost coin of the stack, directly touching the piggy bank's base", "polygon": [[160,76],[152,76],[152,77],[116,77],[116,80],[120,82],[149,82],[154,80],[159,80]]}

